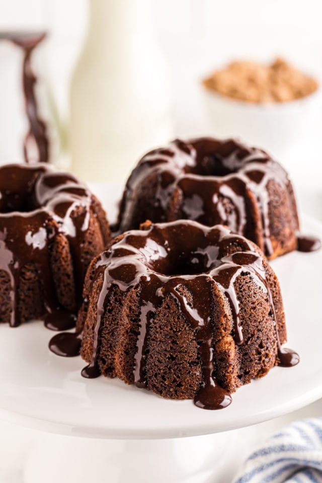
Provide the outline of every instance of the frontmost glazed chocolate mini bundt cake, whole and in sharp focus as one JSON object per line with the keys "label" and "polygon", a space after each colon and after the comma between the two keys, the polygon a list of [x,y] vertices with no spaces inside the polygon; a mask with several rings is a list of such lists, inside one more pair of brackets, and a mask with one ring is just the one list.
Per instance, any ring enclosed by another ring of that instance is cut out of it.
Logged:
{"label": "frontmost glazed chocolate mini bundt cake, whole and in sharp focus", "polygon": [[145,222],[87,272],[76,330],[85,377],[104,374],[205,409],[299,358],[279,283],[261,250],[227,227]]}

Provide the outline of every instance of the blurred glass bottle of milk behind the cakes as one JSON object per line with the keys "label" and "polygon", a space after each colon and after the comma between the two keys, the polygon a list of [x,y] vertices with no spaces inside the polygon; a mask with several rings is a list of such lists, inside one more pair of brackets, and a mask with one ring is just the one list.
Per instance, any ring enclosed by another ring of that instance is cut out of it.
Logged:
{"label": "blurred glass bottle of milk behind the cakes", "polygon": [[71,86],[72,170],[87,182],[120,182],[144,151],[173,135],[167,65],[150,0],[89,5]]}

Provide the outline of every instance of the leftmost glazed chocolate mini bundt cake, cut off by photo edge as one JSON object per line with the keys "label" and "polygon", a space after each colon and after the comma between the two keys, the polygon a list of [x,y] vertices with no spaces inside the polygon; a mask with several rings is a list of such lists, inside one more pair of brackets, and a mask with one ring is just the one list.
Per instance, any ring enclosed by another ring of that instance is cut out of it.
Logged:
{"label": "leftmost glazed chocolate mini bundt cake, cut off by photo edge", "polygon": [[0,167],[0,322],[74,325],[86,269],[109,240],[101,203],[72,175]]}

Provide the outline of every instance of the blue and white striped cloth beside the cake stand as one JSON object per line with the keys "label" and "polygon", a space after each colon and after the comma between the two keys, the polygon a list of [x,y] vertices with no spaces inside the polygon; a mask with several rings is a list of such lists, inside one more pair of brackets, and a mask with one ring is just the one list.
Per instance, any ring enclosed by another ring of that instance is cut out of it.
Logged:
{"label": "blue and white striped cloth beside the cake stand", "polygon": [[234,483],[322,483],[322,418],[296,421],[247,459]]}

